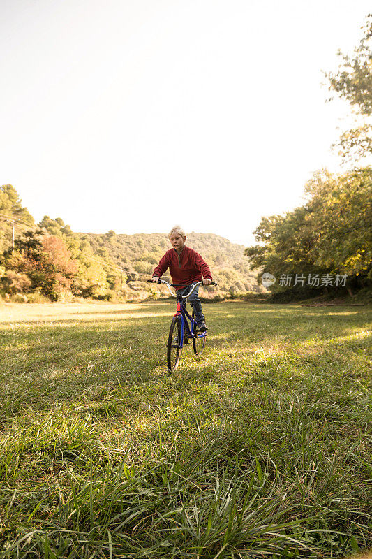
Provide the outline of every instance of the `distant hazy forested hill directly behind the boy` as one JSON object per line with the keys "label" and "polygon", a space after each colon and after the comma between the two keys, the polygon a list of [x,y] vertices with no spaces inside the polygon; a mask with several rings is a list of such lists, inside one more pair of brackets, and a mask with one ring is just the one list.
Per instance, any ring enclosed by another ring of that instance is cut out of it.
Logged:
{"label": "distant hazy forested hill directly behind the boy", "polygon": [[[171,248],[165,233],[78,233],[89,240],[94,254],[123,268],[129,278],[149,277],[161,256]],[[186,244],[202,254],[221,291],[237,293],[259,289],[255,274],[244,256],[244,246],[213,233],[189,233]]]}

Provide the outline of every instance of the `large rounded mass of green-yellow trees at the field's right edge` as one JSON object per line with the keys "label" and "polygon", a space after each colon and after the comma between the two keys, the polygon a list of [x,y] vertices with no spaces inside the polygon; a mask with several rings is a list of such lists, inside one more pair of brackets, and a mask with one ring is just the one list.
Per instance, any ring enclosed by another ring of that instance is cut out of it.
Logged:
{"label": "large rounded mass of green-yellow trees at the field's right edge", "polygon": [[254,268],[272,275],[340,273],[372,279],[372,170],[326,170],[306,184],[305,205],[264,217],[248,247]]}

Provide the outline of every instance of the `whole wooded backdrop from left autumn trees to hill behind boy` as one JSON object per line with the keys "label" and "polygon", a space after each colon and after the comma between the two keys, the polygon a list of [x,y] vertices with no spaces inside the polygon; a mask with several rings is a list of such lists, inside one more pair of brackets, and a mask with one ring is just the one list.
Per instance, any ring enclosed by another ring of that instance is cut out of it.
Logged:
{"label": "whole wooded backdrop from left autumn trees to hill behind boy", "polygon": [[[187,242],[218,283],[203,296],[262,291],[243,245],[207,233],[191,233]],[[165,233],[75,233],[61,217],[47,215],[35,224],[16,189],[0,187],[0,300],[157,298],[168,292],[146,280],[170,246]]]}

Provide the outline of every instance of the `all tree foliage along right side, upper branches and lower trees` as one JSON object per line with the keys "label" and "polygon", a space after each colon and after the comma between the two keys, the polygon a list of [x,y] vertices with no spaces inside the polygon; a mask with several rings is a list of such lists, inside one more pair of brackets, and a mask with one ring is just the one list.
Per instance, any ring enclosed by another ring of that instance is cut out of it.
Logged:
{"label": "all tree foliage along right side, upper branches and lower trees", "polygon": [[[359,117],[359,126],[344,131],[340,140],[340,153],[349,159],[372,152],[371,47],[369,15],[354,55],[339,53],[338,71],[327,74],[329,89],[348,101]],[[248,247],[245,254],[261,273],[342,274],[350,282],[371,282],[371,195],[371,167],[340,175],[327,170],[314,173],[305,187],[306,203],[285,215],[263,217],[254,232],[259,244]],[[279,289],[278,284],[273,289]]]}

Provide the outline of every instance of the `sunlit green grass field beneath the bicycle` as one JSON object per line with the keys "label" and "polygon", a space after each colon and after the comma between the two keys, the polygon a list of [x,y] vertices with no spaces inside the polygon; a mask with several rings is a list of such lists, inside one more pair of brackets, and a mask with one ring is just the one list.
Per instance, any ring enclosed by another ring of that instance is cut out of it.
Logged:
{"label": "sunlit green grass field beneath the bicycle", "polygon": [[371,307],[0,306],[1,558],[331,558],[372,546]]}

